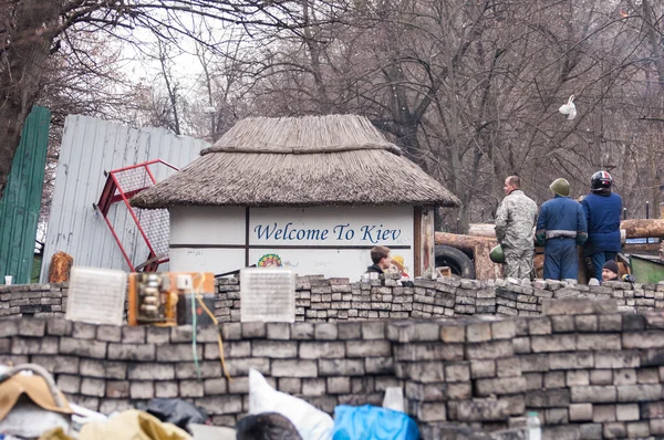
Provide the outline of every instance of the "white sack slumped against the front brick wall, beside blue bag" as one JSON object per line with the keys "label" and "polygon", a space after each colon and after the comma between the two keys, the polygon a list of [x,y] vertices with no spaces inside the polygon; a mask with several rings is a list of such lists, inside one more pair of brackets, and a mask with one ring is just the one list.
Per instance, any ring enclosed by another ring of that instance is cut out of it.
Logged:
{"label": "white sack slumped against the front brick wall, beside blue bag", "polygon": [[298,430],[302,440],[330,440],[332,418],[297,397],[277,391],[256,369],[249,370],[249,413],[277,412],[284,416]]}

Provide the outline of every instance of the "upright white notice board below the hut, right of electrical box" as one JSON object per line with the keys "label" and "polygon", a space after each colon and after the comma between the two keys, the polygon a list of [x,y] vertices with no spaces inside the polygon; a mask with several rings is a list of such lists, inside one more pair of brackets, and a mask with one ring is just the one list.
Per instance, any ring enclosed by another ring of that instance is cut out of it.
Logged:
{"label": "upright white notice board below the hut, right of electrical box", "polygon": [[250,268],[240,271],[240,321],[295,321],[295,274],[288,269]]}

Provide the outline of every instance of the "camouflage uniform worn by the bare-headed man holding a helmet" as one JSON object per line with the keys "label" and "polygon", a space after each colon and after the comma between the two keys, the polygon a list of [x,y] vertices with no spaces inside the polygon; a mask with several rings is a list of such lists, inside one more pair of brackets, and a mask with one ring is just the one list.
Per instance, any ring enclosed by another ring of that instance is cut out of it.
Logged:
{"label": "camouflage uniform worn by the bare-headed man holding a helmet", "polygon": [[532,272],[532,227],[537,205],[522,190],[515,189],[502,199],[496,212],[496,238],[505,252],[505,276],[530,279]]}

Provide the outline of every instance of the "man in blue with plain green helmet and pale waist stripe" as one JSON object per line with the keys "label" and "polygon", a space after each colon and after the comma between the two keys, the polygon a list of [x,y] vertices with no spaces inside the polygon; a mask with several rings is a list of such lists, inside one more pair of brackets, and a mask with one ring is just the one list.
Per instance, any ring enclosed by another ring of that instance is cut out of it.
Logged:
{"label": "man in blue with plain green helmet and pale waist stripe", "polygon": [[581,205],[570,199],[566,179],[553,180],[549,189],[556,196],[540,208],[535,232],[538,244],[544,247],[544,279],[577,280],[577,244],[588,239],[585,214]]}

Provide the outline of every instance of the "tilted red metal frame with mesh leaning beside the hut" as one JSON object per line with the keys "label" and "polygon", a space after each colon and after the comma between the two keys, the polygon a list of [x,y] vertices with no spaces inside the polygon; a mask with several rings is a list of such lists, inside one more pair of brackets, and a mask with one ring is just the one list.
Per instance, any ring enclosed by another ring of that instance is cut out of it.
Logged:
{"label": "tilted red metal frame with mesh leaning beside the hut", "polygon": [[[174,170],[178,170],[178,168],[162,159],[155,159],[104,172],[106,176],[106,184],[100,196],[100,201],[94,205],[94,208],[98,210],[106,221],[106,224],[132,272],[141,270],[154,272],[159,264],[168,261],[168,210],[138,209],[129,205],[129,199],[132,197],[157,182],[149,169],[149,167],[154,165],[165,165]],[[134,265],[129,259],[127,251],[113,228],[113,223],[108,219],[108,211],[113,203],[121,201],[124,202],[128,213],[134,219],[136,228],[149,250],[145,262],[137,265]]]}

